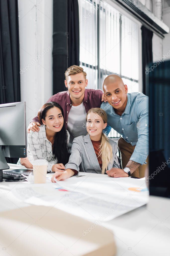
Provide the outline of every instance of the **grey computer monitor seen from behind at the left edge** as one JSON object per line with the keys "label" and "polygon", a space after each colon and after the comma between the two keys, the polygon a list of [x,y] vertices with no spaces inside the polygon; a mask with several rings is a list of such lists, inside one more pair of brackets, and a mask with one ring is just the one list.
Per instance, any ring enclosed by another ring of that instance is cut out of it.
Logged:
{"label": "grey computer monitor seen from behind at the left edge", "polygon": [[26,103],[0,104],[0,180],[5,157],[26,157]]}

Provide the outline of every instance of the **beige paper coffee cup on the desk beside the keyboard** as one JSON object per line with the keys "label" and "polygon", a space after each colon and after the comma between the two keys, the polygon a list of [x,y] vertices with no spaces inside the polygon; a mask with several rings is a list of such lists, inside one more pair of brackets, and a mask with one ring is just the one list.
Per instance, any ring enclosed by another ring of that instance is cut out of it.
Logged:
{"label": "beige paper coffee cup on the desk beside the keyboard", "polygon": [[37,161],[33,164],[34,184],[46,183],[47,166],[45,161]]}

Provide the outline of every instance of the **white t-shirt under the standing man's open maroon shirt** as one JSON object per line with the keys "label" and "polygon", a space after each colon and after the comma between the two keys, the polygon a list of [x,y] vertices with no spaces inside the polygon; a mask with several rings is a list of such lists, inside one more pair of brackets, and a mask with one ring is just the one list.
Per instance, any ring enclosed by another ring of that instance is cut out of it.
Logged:
{"label": "white t-shirt under the standing man's open maroon shirt", "polygon": [[83,102],[78,106],[72,106],[68,115],[67,130],[70,134],[68,148],[72,147],[72,142],[75,137],[87,135],[86,130],[86,110]]}

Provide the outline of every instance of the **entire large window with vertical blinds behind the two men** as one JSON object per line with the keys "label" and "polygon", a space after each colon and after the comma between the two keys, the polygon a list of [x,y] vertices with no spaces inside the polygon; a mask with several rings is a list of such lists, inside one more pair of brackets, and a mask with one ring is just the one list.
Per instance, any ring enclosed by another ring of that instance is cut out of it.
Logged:
{"label": "entire large window with vertical blinds behind the two men", "polygon": [[[80,66],[88,88],[102,89],[105,77],[114,73],[128,92],[139,91],[139,24],[108,0],[79,0],[79,20]],[[113,130],[109,136],[120,137]]]}

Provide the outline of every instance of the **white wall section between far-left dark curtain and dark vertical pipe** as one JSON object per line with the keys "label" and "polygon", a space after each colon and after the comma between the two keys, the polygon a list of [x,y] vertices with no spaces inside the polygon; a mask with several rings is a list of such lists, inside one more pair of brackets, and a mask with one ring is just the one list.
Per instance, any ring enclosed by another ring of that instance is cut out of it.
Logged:
{"label": "white wall section between far-left dark curtain and dark vertical pipe", "polygon": [[[21,101],[27,126],[52,95],[52,0],[18,0]],[[27,70],[26,70],[27,69]]]}

